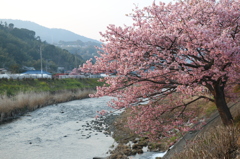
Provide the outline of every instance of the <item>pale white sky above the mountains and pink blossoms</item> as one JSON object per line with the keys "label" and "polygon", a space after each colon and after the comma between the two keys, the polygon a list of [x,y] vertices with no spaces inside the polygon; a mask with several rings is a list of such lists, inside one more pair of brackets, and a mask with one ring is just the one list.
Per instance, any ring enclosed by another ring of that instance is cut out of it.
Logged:
{"label": "pale white sky above the mountains and pink blossoms", "polygon": [[[100,40],[109,24],[131,25],[126,14],[152,5],[154,0],[0,0],[0,19],[35,22]],[[169,3],[171,0],[155,0]]]}

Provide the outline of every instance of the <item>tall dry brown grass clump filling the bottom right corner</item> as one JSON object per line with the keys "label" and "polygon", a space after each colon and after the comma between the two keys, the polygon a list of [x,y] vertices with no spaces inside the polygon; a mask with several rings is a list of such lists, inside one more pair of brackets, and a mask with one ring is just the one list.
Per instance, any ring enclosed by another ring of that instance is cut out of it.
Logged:
{"label": "tall dry brown grass clump filling the bottom right corner", "polygon": [[234,159],[239,155],[239,126],[217,126],[198,136],[174,159]]}

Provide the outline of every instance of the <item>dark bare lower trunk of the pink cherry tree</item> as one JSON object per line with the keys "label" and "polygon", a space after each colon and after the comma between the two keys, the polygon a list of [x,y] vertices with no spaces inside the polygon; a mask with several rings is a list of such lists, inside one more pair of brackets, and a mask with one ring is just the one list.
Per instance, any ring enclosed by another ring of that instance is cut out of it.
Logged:
{"label": "dark bare lower trunk of the pink cherry tree", "polygon": [[219,84],[214,85],[214,98],[215,104],[217,106],[223,124],[224,125],[233,124],[233,117],[225,100],[224,86],[220,86]]}

